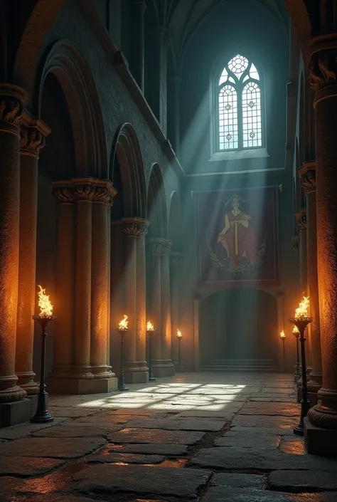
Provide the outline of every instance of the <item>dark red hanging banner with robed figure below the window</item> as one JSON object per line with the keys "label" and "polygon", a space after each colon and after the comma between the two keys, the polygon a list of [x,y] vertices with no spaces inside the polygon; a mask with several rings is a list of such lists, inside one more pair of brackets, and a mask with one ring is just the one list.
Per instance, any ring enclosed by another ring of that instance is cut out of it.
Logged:
{"label": "dark red hanging banner with robed figure below the window", "polygon": [[201,284],[278,283],[277,197],[278,187],[194,192]]}

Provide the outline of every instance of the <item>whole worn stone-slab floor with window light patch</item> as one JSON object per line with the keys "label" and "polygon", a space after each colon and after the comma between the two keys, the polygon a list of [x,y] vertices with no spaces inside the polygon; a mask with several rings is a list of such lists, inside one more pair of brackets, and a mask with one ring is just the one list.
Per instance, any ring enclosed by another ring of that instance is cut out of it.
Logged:
{"label": "whole worn stone-slab floor with window light patch", "polygon": [[0,429],[0,501],[337,501],[337,459],[306,454],[292,433],[291,375],[129,387],[50,396],[53,424]]}

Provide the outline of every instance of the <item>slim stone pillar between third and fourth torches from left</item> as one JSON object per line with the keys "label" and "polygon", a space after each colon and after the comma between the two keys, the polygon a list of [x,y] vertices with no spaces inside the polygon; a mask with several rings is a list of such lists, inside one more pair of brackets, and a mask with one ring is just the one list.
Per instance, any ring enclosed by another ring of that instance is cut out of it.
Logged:
{"label": "slim stone pillar between third and fourth torches from left", "polygon": [[[157,334],[154,338],[154,375],[157,377],[169,377],[174,375],[174,366],[172,364],[172,342],[171,342],[171,294],[170,294],[170,268],[169,252],[171,241],[167,239],[150,239],[150,249],[154,255],[154,275],[151,311],[154,318],[160,318]],[[160,296],[160,305],[158,299],[154,299],[155,291]],[[160,350],[159,350],[160,337]],[[159,358],[160,357],[160,358]]]}

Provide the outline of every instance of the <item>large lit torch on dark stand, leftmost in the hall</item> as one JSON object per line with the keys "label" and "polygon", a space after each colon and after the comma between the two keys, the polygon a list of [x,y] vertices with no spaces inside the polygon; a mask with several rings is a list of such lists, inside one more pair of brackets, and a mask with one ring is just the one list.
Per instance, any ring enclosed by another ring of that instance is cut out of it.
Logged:
{"label": "large lit torch on dark stand, leftmost in the hall", "polygon": [[48,412],[47,406],[47,392],[45,384],[45,367],[46,367],[46,329],[49,323],[53,321],[55,315],[53,315],[53,305],[50,303],[49,296],[46,295],[46,289],[42,286],[38,286],[40,291],[38,291],[38,306],[40,307],[40,313],[33,315],[33,320],[37,320],[41,325],[42,330],[42,347],[41,347],[41,377],[40,383],[38,385],[38,407],[36,409],[36,414],[31,417],[31,422],[37,424],[46,424],[48,422],[53,422],[53,417]]}

